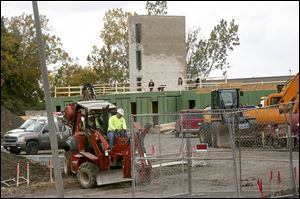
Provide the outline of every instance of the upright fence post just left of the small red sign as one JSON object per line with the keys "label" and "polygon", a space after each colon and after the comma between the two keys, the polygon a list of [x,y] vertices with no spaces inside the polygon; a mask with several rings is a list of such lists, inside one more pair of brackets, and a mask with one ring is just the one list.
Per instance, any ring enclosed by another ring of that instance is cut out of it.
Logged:
{"label": "upright fence post just left of the small red sign", "polygon": [[189,194],[192,194],[192,172],[191,172],[191,167],[192,167],[192,161],[191,161],[191,113],[187,113],[187,131],[186,131],[186,148],[187,148],[187,162],[188,162],[188,188],[189,188]]}

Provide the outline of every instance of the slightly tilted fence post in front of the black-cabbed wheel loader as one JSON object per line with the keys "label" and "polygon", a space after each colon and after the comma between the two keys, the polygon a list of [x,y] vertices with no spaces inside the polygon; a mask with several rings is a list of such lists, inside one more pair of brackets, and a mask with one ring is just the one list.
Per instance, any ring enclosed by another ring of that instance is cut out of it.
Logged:
{"label": "slightly tilted fence post in front of the black-cabbed wheel loader", "polygon": [[[230,117],[231,116],[231,117]],[[231,140],[231,151],[232,151],[232,158],[233,158],[233,181],[234,181],[234,191],[235,197],[239,198],[239,186],[238,186],[238,179],[237,179],[237,167],[236,167],[236,160],[235,160],[235,123],[234,123],[234,114],[229,115],[228,117],[228,131]],[[238,124],[237,124],[238,126]]]}

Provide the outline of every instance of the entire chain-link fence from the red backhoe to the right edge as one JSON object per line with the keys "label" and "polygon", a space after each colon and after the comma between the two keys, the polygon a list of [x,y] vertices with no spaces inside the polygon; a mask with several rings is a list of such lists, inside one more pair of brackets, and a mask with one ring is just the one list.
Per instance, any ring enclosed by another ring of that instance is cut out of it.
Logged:
{"label": "entire chain-link fence from the red backhoe to the right edge", "polygon": [[[295,189],[299,193],[294,125],[299,115],[281,110],[261,120],[257,114],[268,108],[132,116],[132,196],[262,197]],[[277,116],[284,122],[274,122]]]}

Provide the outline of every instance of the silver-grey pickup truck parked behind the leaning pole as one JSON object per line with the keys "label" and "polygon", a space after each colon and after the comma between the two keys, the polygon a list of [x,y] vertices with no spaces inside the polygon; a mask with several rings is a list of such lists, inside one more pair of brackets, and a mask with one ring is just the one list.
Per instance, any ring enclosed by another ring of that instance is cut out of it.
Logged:
{"label": "silver-grey pickup truck parked behind the leaning pole", "polygon": [[[67,147],[66,140],[71,135],[71,129],[60,116],[54,116],[54,123],[58,148],[63,149]],[[20,154],[25,151],[28,155],[35,155],[39,150],[51,149],[47,117],[39,117],[25,131],[7,132],[3,146],[11,153]]]}

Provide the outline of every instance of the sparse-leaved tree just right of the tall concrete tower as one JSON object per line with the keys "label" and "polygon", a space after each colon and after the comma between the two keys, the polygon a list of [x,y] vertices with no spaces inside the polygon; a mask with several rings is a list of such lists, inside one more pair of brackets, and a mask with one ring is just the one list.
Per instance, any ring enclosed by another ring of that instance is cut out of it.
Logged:
{"label": "sparse-leaved tree just right of the tall concrete tower", "polygon": [[238,25],[234,19],[228,27],[227,22],[222,19],[210,33],[209,39],[199,39],[200,29],[188,33],[186,43],[187,76],[208,77],[213,70],[229,68],[227,62],[227,51],[233,51],[238,46]]}

